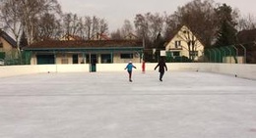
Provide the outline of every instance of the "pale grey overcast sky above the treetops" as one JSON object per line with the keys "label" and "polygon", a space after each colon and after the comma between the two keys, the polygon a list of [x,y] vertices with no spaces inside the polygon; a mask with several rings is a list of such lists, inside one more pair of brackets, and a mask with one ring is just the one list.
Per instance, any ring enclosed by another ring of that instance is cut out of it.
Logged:
{"label": "pale grey overcast sky above the treetops", "polygon": [[[115,30],[123,25],[124,20],[134,21],[136,14],[166,12],[173,14],[177,7],[191,0],[58,0],[64,13],[84,16],[96,16],[105,19],[109,30]],[[256,16],[255,0],[215,0],[216,3],[226,3],[239,9],[241,15]]]}

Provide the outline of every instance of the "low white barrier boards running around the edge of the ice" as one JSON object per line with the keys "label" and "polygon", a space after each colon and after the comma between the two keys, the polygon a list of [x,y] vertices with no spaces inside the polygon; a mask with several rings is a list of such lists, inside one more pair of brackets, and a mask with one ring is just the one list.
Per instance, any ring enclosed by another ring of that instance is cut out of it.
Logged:
{"label": "low white barrier boards running around the edge of the ice", "polygon": [[[96,64],[96,71],[124,71],[127,64]],[[168,70],[192,70],[223,73],[242,78],[256,79],[256,65],[244,64],[210,64],[210,63],[171,63],[166,64]],[[134,63],[135,71],[142,71],[141,63]],[[157,63],[146,63],[146,72],[152,71]],[[2,66],[0,77],[48,73],[48,72],[90,72],[90,65],[34,65],[34,66]]]}

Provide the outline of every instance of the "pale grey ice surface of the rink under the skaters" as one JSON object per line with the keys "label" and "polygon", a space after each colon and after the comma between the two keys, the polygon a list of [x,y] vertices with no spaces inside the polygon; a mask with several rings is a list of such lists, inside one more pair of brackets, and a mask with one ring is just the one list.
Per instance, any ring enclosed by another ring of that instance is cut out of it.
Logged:
{"label": "pale grey ice surface of the rink under the skaters", "polygon": [[197,71],[0,78],[0,138],[255,138],[256,81]]}

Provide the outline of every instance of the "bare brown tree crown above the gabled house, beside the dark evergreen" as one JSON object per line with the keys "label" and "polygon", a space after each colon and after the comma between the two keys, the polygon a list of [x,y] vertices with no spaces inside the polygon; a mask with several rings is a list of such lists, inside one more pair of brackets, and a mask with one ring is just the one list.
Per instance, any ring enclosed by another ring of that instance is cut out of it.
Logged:
{"label": "bare brown tree crown above the gabled house, beside the dark evergreen", "polygon": [[213,0],[191,1],[183,7],[178,7],[170,18],[172,20],[169,21],[176,22],[174,24],[189,26],[206,46],[213,43],[219,26]]}

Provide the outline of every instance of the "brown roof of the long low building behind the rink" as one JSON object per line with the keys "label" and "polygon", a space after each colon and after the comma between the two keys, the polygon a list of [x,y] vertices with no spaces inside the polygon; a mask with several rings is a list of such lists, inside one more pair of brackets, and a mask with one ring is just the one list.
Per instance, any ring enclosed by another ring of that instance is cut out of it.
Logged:
{"label": "brown roof of the long low building behind the rink", "polygon": [[36,49],[102,49],[102,48],[143,48],[139,40],[47,40],[32,43],[25,50]]}

